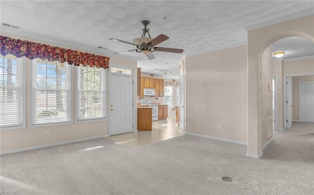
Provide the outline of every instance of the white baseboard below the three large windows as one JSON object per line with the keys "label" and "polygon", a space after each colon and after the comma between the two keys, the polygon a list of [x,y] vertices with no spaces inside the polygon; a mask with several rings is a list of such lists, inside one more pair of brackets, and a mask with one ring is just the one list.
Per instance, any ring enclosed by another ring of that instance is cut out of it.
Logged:
{"label": "white baseboard below the three large windows", "polygon": [[22,149],[17,149],[17,150],[4,151],[4,152],[0,152],[0,155],[9,154],[9,153],[16,153],[16,152],[30,151],[30,150],[41,149],[41,148],[48,148],[48,147],[59,146],[59,145],[63,145],[63,144],[71,144],[71,143],[75,143],[75,142],[81,142],[81,141],[88,141],[88,140],[92,140],[92,139],[105,138],[105,137],[108,137],[108,136],[109,135],[100,135],[100,136],[96,136],[96,137],[87,137],[87,138],[75,139],[75,140],[70,140],[70,141],[65,141],[65,142],[58,142],[58,143],[53,143],[53,144],[46,144],[46,145],[33,146],[33,147],[22,148]]}

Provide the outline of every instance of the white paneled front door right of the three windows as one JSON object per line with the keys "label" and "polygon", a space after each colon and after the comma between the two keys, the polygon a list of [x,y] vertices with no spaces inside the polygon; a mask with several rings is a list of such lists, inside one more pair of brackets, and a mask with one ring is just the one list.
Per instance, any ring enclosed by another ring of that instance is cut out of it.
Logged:
{"label": "white paneled front door right of the three windows", "polygon": [[110,75],[110,135],[133,131],[133,78]]}

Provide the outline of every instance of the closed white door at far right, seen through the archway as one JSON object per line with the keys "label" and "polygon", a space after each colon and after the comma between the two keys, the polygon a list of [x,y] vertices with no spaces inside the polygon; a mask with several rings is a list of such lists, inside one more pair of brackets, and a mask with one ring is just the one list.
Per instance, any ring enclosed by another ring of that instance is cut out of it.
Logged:
{"label": "closed white door at far right, seen through the archway", "polygon": [[314,82],[300,83],[299,121],[314,122]]}

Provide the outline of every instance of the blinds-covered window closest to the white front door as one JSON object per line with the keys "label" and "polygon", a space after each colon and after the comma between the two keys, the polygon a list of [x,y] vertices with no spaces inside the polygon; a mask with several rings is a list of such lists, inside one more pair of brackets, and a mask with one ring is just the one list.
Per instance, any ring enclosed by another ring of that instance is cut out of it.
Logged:
{"label": "blinds-covered window closest to the white front door", "polygon": [[78,66],[77,119],[105,119],[105,69]]}

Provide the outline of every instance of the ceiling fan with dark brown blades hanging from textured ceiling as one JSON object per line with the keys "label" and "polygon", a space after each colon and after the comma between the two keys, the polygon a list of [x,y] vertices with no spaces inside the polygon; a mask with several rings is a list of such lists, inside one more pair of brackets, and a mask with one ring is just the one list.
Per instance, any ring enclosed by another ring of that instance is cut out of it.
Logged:
{"label": "ceiling fan with dark brown blades hanging from textured ceiling", "polygon": [[[173,53],[182,53],[183,49],[175,49],[175,48],[168,48],[168,47],[155,47],[157,44],[166,41],[169,39],[168,36],[164,34],[158,35],[155,39],[151,38],[151,35],[149,34],[149,29],[147,29],[147,25],[149,24],[149,21],[142,21],[142,24],[145,26],[143,30],[142,37],[136,38],[133,40],[133,43],[110,38],[112,41],[117,41],[121,43],[127,43],[136,46],[136,49],[131,49],[128,51],[122,51],[114,54],[122,54],[122,53],[127,53],[131,51],[136,51],[136,52],[142,52],[144,53],[149,60],[155,59],[155,56],[152,52],[154,51],[165,51],[165,52],[173,52]],[[149,37],[145,37],[146,33],[148,34]]]}

